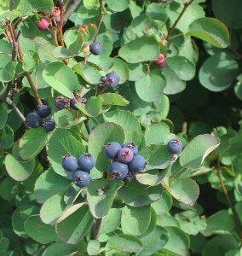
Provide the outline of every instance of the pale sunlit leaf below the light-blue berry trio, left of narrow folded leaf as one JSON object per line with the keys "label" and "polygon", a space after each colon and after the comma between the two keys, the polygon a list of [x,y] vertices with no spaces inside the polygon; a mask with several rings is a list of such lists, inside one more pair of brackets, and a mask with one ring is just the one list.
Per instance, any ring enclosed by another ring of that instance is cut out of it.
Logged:
{"label": "pale sunlit leaf below the light-blue berry trio, left of narrow folded leaf", "polygon": [[43,223],[56,224],[58,218],[66,210],[66,203],[63,199],[64,191],[61,191],[57,195],[52,195],[47,199],[40,209],[39,215]]}

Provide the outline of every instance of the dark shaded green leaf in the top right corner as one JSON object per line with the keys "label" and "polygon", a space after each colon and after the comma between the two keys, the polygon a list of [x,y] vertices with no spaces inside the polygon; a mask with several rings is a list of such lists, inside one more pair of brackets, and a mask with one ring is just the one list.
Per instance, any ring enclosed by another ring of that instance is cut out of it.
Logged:
{"label": "dark shaded green leaf in the top right corner", "polygon": [[242,2],[240,0],[232,0],[228,4],[227,0],[212,0],[212,10],[216,18],[222,20],[226,26],[239,29],[242,28],[242,17],[239,10],[242,9]]}

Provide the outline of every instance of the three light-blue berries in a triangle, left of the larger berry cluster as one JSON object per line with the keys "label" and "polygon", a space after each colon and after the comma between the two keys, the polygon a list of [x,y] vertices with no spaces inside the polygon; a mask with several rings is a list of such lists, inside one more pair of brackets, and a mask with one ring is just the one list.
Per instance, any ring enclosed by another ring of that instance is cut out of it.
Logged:
{"label": "three light-blue berries in a triangle, left of the larger berry cluster", "polygon": [[78,187],[85,187],[90,183],[90,171],[95,166],[94,157],[83,154],[78,159],[73,155],[67,154],[62,158],[62,167],[66,172],[72,173],[72,182]]}

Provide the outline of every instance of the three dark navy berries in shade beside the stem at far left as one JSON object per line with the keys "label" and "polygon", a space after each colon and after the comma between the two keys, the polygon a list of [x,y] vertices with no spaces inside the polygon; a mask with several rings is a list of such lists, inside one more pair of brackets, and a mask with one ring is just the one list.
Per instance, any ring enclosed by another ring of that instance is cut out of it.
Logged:
{"label": "three dark navy berries in shade beside the stem at far left", "polygon": [[46,132],[54,131],[55,120],[49,117],[51,108],[48,105],[37,106],[37,112],[28,113],[26,116],[26,125],[30,128],[42,126]]}

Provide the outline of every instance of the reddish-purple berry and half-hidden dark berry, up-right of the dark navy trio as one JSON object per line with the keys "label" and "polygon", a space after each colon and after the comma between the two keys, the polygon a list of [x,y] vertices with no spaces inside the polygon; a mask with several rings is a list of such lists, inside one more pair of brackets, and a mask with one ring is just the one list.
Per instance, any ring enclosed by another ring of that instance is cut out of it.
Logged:
{"label": "reddish-purple berry and half-hidden dark berry, up-right of the dark navy trio", "polygon": [[86,99],[78,95],[76,95],[72,99],[66,96],[58,96],[55,98],[55,108],[57,108],[58,110],[65,108],[72,108],[73,110],[78,110],[78,108],[75,106],[78,102],[84,103],[86,102]]}

